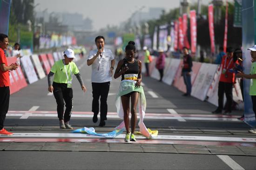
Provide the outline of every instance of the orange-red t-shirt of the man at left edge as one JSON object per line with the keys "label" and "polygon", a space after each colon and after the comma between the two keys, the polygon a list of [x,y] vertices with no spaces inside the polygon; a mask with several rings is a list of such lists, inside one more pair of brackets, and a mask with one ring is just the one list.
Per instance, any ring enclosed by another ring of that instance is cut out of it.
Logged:
{"label": "orange-red t-shirt of the man at left edge", "polygon": [[[5,51],[0,48],[0,64],[5,64],[8,66],[7,58],[5,56]],[[0,87],[6,87],[10,86],[10,77],[9,77],[9,71],[3,72],[0,69]]]}

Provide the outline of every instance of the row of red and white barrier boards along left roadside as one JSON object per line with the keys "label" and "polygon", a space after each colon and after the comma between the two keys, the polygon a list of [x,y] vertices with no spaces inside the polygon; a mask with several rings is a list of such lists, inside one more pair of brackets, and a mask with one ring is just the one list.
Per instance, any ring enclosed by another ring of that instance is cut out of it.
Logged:
{"label": "row of red and white barrier boards along left roadside", "polygon": [[[54,62],[63,59],[62,52],[47,54],[32,54],[31,50],[22,50],[18,69],[10,71],[10,94],[18,92],[48,75]],[[74,62],[81,59],[81,55],[75,54]],[[16,63],[16,57],[7,57],[8,64]]]}

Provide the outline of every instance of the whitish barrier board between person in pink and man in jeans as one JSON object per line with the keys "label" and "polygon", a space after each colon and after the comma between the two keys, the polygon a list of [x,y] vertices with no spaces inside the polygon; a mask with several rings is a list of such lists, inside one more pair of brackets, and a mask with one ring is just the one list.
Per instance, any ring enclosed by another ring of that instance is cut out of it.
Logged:
{"label": "whitish barrier board between person in pink and man in jeans", "polygon": [[173,83],[180,63],[181,63],[180,59],[172,58],[170,60],[169,66],[167,67],[163,75],[163,82],[165,82],[168,85],[171,85]]}

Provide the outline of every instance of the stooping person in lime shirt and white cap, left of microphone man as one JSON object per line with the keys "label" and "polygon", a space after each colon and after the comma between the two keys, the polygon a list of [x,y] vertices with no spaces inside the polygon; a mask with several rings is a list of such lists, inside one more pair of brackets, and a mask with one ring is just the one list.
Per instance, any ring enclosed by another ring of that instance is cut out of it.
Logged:
{"label": "stooping person in lime shirt and white cap, left of microphone man", "polygon": [[[64,59],[55,62],[47,76],[48,91],[54,93],[54,97],[57,102],[57,113],[60,120],[60,129],[73,129],[73,127],[68,123],[73,110],[73,74],[76,76],[78,82],[80,83],[83,92],[86,92],[86,87],[82,80],[81,74],[76,64],[72,62],[74,58],[74,51],[72,49],[65,50]],[[65,112],[64,101],[66,103]]]}

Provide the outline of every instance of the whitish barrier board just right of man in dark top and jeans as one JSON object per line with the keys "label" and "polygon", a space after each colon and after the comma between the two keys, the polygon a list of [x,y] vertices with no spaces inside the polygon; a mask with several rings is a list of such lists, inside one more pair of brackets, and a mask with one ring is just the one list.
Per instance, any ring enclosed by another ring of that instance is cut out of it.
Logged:
{"label": "whitish barrier board just right of man in dark top and jeans", "polygon": [[192,86],[191,95],[204,101],[206,99],[207,92],[212,83],[213,77],[216,73],[218,65],[202,63],[201,68],[196,76],[195,82]]}

